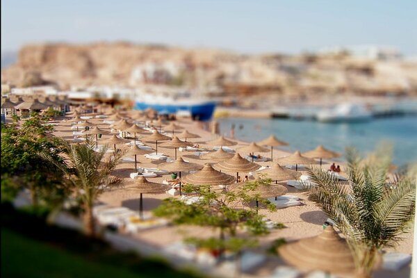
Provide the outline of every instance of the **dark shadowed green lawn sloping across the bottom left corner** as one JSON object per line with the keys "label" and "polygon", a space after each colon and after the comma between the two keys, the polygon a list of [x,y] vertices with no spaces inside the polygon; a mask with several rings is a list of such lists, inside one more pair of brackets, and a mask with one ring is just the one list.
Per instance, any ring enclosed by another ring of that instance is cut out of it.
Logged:
{"label": "dark shadowed green lawn sloping across the bottom left corner", "polygon": [[34,278],[150,277],[88,261],[52,245],[1,229],[1,276]]}

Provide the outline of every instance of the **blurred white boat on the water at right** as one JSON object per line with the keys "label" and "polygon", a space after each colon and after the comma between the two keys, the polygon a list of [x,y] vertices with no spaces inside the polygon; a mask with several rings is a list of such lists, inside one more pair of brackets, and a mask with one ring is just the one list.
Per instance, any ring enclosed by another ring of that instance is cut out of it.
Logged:
{"label": "blurred white boat on the water at right", "polygon": [[316,119],[319,122],[362,122],[370,120],[372,117],[369,109],[361,104],[339,104],[316,114]]}

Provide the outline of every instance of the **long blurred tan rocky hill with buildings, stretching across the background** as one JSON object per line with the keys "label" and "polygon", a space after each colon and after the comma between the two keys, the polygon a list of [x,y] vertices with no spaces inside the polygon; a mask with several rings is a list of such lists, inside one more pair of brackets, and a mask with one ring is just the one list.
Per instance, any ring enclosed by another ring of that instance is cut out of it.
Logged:
{"label": "long blurred tan rocky hill with buildings, stretching across the background", "polygon": [[183,49],[129,42],[27,45],[1,70],[17,86],[143,84],[217,87],[251,95],[417,94],[417,63],[341,54],[244,56],[218,49]]}

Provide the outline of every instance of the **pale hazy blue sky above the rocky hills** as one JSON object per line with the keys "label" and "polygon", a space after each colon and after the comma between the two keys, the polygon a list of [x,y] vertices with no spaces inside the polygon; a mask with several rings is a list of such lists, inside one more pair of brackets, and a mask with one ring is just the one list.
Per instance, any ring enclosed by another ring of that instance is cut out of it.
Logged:
{"label": "pale hazy blue sky above the rocky hills", "polygon": [[97,40],[244,53],[377,44],[417,55],[417,1],[1,1],[2,51]]}

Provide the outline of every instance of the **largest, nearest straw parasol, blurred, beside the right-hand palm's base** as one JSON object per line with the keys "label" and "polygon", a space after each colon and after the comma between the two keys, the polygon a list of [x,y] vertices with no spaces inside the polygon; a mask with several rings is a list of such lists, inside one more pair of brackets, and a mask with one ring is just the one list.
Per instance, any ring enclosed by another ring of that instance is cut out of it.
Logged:
{"label": "largest, nearest straw parasol, blurred, beside the right-hand palm's base", "polygon": [[282,245],[279,254],[287,263],[305,271],[322,270],[343,275],[355,270],[346,240],[338,236],[332,226],[327,226],[318,236]]}

